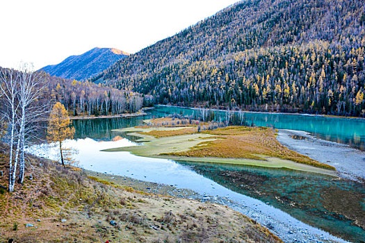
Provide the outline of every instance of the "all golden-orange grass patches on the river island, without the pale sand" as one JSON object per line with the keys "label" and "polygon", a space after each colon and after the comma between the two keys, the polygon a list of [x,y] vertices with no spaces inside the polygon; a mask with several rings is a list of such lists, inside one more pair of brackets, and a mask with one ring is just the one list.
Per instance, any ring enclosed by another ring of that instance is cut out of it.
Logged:
{"label": "all golden-orange grass patches on the river island, without the pale sand", "polygon": [[[151,127],[181,127],[176,130],[153,130],[148,132],[140,132],[143,135],[151,135],[156,138],[171,137],[177,135],[188,135],[197,133],[197,126],[209,126],[208,123],[200,123],[193,120],[191,124],[188,120],[172,119],[171,117],[163,117],[158,119],[150,119],[146,121],[146,126],[140,128]],[[189,127],[190,126],[190,127]],[[248,126],[228,126],[218,128],[216,130],[202,131],[210,135],[216,135],[216,140],[206,141],[193,146],[188,151],[180,151],[174,153],[162,153],[163,156],[186,156],[186,157],[214,157],[214,158],[248,158],[254,160],[265,160],[263,156],[271,156],[292,160],[306,165],[312,165],[324,169],[336,170],[330,165],[323,164],[316,160],[304,156],[295,151],[291,151],[276,140],[276,134],[272,128],[264,127],[248,127]]]}

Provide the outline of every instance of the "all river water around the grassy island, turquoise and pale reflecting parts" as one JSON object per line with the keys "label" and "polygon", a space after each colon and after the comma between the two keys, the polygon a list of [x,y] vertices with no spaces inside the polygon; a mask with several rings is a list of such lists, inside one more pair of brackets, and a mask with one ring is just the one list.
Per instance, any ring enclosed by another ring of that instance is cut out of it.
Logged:
{"label": "all river water around the grassy island, turquoise and pale reflecting parts", "polygon": [[[213,195],[224,191],[220,189],[218,192],[216,185],[210,187],[209,181],[202,180],[206,178],[228,190],[268,203],[306,224],[343,239],[352,242],[362,242],[365,239],[365,231],[359,227],[364,226],[365,220],[363,183],[288,169],[174,162],[131,156],[126,152],[122,152],[123,156],[120,156],[120,153],[98,151],[102,146],[98,144],[99,141],[126,137],[123,133],[111,131],[113,129],[138,126],[143,124],[143,119],[152,117],[163,117],[173,113],[197,115],[200,111],[159,106],[149,112],[145,117],[73,121],[76,139],[92,139],[74,140],[74,144],[79,143],[81,149],[81,165],[86,169],[178,185]],[[225,113],[217,111],[216,117],[224,119]],[[360,133],[365,131],[364,120],[263,113],[246,113],[245,117],[250,123],[253,120],[257,126],[271,124],[275,128],[307,131],[327,140],[364,149],[364,135]],[[131,141],[135,138],[127,136]],[[129,146],[118,145],[117,142],[114,145],[107,143],[104,142],[103,145],[106,148]],[[91,147],[94,148],[92,151]],[[204,183],[201,183],[203,181]]]}

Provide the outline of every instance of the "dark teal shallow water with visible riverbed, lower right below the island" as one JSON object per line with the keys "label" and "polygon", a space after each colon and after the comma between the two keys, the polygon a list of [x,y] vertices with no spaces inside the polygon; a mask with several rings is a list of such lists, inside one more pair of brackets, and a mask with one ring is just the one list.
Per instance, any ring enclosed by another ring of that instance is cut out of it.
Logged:
{"label": "dark teal shallow water with visible riverbed, lower right below the island", "polygon": [[365,239],[362,183],[289,169],[179,162],[229,190],[270,203],[311,226],[352,242]]}

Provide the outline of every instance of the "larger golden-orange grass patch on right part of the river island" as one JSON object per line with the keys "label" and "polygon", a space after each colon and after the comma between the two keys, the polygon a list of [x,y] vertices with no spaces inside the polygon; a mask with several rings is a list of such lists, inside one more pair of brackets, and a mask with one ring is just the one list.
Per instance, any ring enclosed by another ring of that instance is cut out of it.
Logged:
{"label": "larger golden-orange grass patch on right part of the river island", "polygon": [[[158,132],[158,131],[156,131]],[[188,151],[168,153],[172,156],[218,157],[218,158],[250,158],[263,160],[259,155],[272,156],[292,160],[315,167],[332,169],[334,167],[291,151],[280,144],[271,128],[228,126],[213,131],[203,131],[216,135],[217,140],[202,142]]]}

